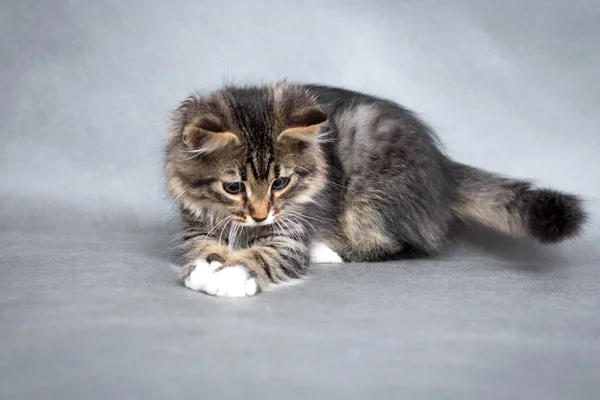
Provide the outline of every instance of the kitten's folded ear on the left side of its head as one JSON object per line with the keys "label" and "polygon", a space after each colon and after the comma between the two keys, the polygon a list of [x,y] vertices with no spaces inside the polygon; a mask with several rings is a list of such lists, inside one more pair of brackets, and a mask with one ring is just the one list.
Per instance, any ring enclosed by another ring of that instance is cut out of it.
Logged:
{"label": "kitten's folded ear on the left side of its head", "polygon": [[210,153],[239,142],[236,135],[211,117],[196,117],[183,127],[183,143],[198,153]]}

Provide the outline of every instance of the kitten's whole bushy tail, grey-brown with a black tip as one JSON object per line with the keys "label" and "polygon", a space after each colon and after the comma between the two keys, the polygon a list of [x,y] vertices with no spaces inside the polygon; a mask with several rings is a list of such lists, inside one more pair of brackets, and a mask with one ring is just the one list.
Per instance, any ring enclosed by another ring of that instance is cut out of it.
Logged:
{"label": "kitten's whole bushy tail, grey-brown with a black tip", "polygon": [[505,178],[468,165],[451,163],[457,184],[454,214],[511,236],[532,236],[557,243],[581,233],[587,216],[581,199],[523,180]]}

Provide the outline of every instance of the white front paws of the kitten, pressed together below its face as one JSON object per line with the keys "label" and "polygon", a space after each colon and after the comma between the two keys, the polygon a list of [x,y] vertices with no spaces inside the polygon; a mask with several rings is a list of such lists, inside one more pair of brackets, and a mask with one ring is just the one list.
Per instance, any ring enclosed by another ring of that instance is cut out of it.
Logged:
{"label": "white front paws of the kitten, pressed together below its face", "polygon": [[258,284],[246,267],[235,265],[216,271],[221,265],[218,261],[209,264],[196,260],[194,270],[183,282],[185,287],[222,297],[254,296],[258,292]]}

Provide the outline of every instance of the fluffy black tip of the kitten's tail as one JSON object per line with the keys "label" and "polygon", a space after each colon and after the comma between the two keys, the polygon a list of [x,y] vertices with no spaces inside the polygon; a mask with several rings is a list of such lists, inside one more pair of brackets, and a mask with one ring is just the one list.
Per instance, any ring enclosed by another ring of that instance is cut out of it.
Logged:
{"label": "fluffy black tip of the kitten's tail", "polygon": [[587,216],[578,197],[549,189],[532,190],[528,195],[525,218],[533,237],[549,244],[581,233]]}

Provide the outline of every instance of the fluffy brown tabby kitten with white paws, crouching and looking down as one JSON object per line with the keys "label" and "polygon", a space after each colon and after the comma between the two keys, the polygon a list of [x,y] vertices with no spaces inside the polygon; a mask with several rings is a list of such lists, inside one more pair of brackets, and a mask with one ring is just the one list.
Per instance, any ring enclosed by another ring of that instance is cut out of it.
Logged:
{"label": "fluffy brown tabby kitten with white paws, crouching and looking down", "polygon": [[165,171],[182,215],[181,279],[216,296],[252,296],[311,261],[436,253],[457,221],[556,243],[586,219],[574,195],[450,160],[400,105],[319,85],[189,97]]}

